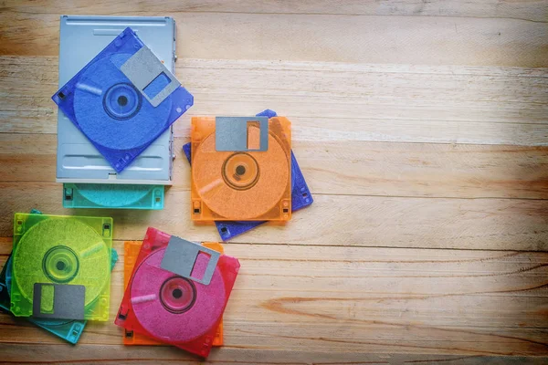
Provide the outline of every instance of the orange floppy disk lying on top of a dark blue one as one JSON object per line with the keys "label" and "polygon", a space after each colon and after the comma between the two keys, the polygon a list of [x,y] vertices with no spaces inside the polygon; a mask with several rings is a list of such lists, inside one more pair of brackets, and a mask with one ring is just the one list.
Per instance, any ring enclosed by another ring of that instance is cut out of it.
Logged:
{"label": "orange floppy disk lying on top of a dark blue one", "polygon": [[193,117],[192,220],[289,221],[290,141],[285,117]]}

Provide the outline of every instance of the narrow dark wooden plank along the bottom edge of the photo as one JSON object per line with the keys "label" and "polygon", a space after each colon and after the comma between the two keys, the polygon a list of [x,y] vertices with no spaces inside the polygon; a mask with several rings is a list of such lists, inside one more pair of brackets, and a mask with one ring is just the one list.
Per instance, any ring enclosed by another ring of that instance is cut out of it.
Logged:
{"label": "narrow dark wooden plank along the bottom edge of the photo", "polygon": [[[59,349],[57,349],[59,348]],[[52,351],[55,349],[56,351]],[[371,354],[366,352],[324,352],[289,351],[270,349],[213,349],[207,360],[197,359],[184,351],[172,347],[124,347],[123,345],[78,345],[68,348],[61,345],[54,348],[51,344],[27,345],[18,343],[0,343],[0,351],[6,363],[28,364],[27,360],[39,363],[82,364],[101,363],[119,365],[121,362],[132,364],[285,364],[285,365],[404,365],[437,364],[448,365],[544,365],[547,357],[535,356],[486,356],[486,355],[428,355],[428,354]],[[57,352],[58,351],[58,352]],[[21,360],[24,353],[27,360]]]}

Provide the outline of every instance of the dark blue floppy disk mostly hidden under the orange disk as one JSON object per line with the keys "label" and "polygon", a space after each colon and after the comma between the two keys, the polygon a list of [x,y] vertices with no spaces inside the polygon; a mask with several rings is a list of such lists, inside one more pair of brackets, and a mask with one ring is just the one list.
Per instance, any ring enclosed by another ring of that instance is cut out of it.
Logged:
{"label": "dark blue floppy disk mostly hidden under the orange disk", "polygon": [[[258,117],[276,117],[276,111],[264,110],[257,114]],[[183,146],[184,155],[189,163],[191,163],[191,143],[186,143]],[[311,192],[304,180],[304,176],[300,171],[299,163],[295,158],[295,154],[291,151],[291,211],[296,212],[302,208],[305,208],[313,203]],[[247,222],[233,222],[224,221],[216,222],[216,228],[223,241],[227,241],[237,235],[248,232],[249,230],[257,227],[265,222],[261,221],[247,221]]]}

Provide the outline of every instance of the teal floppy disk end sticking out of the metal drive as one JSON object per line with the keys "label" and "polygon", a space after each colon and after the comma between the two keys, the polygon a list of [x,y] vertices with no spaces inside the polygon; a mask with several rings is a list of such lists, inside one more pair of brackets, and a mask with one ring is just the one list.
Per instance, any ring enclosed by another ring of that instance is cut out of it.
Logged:
{"label": "teal floppy disk end sticking out of the metal drive", "polygon": [[65,208],[163,209],[163,185],[64,183]]}

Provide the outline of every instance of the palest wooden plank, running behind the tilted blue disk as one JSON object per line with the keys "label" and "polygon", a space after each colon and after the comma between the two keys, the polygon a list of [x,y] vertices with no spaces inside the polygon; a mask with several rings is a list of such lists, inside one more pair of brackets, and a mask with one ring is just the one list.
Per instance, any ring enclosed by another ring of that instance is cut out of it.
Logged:
{"label": "palest wooden plank, running behind the tilted blue disk", "polygon": [[[56,133],[57,58],[0,57],[0,66],[0,132]],[[192,59],[177,71],[196,100],[174,124],[181,137],[193,115],[270,108],[290,117],[295,141],[548,144],[548,68]]]}

